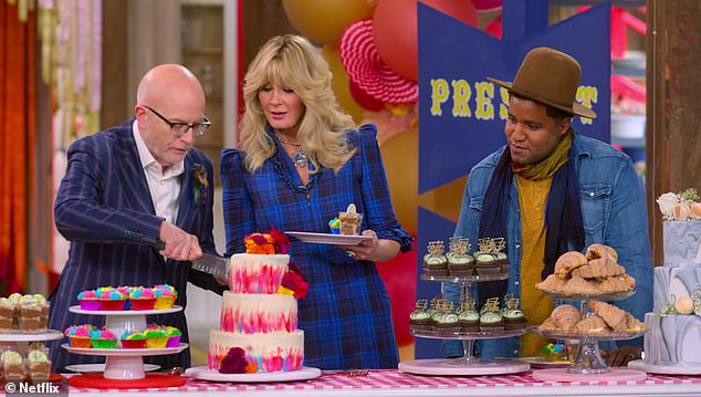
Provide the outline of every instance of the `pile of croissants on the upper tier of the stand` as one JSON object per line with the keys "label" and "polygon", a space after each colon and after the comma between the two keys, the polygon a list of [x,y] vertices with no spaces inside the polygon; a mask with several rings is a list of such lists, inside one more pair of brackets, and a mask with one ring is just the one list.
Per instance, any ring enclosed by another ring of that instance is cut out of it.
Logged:
{"label": "pile of croissants on the upper tier of the stand", "polygon": [[592,244],[586,254],[569,251],[555,262],[555,272],[535,284],[540,290],[563,295],[607,295],[632,291],[636,280],[619,265],[616,250]]}

